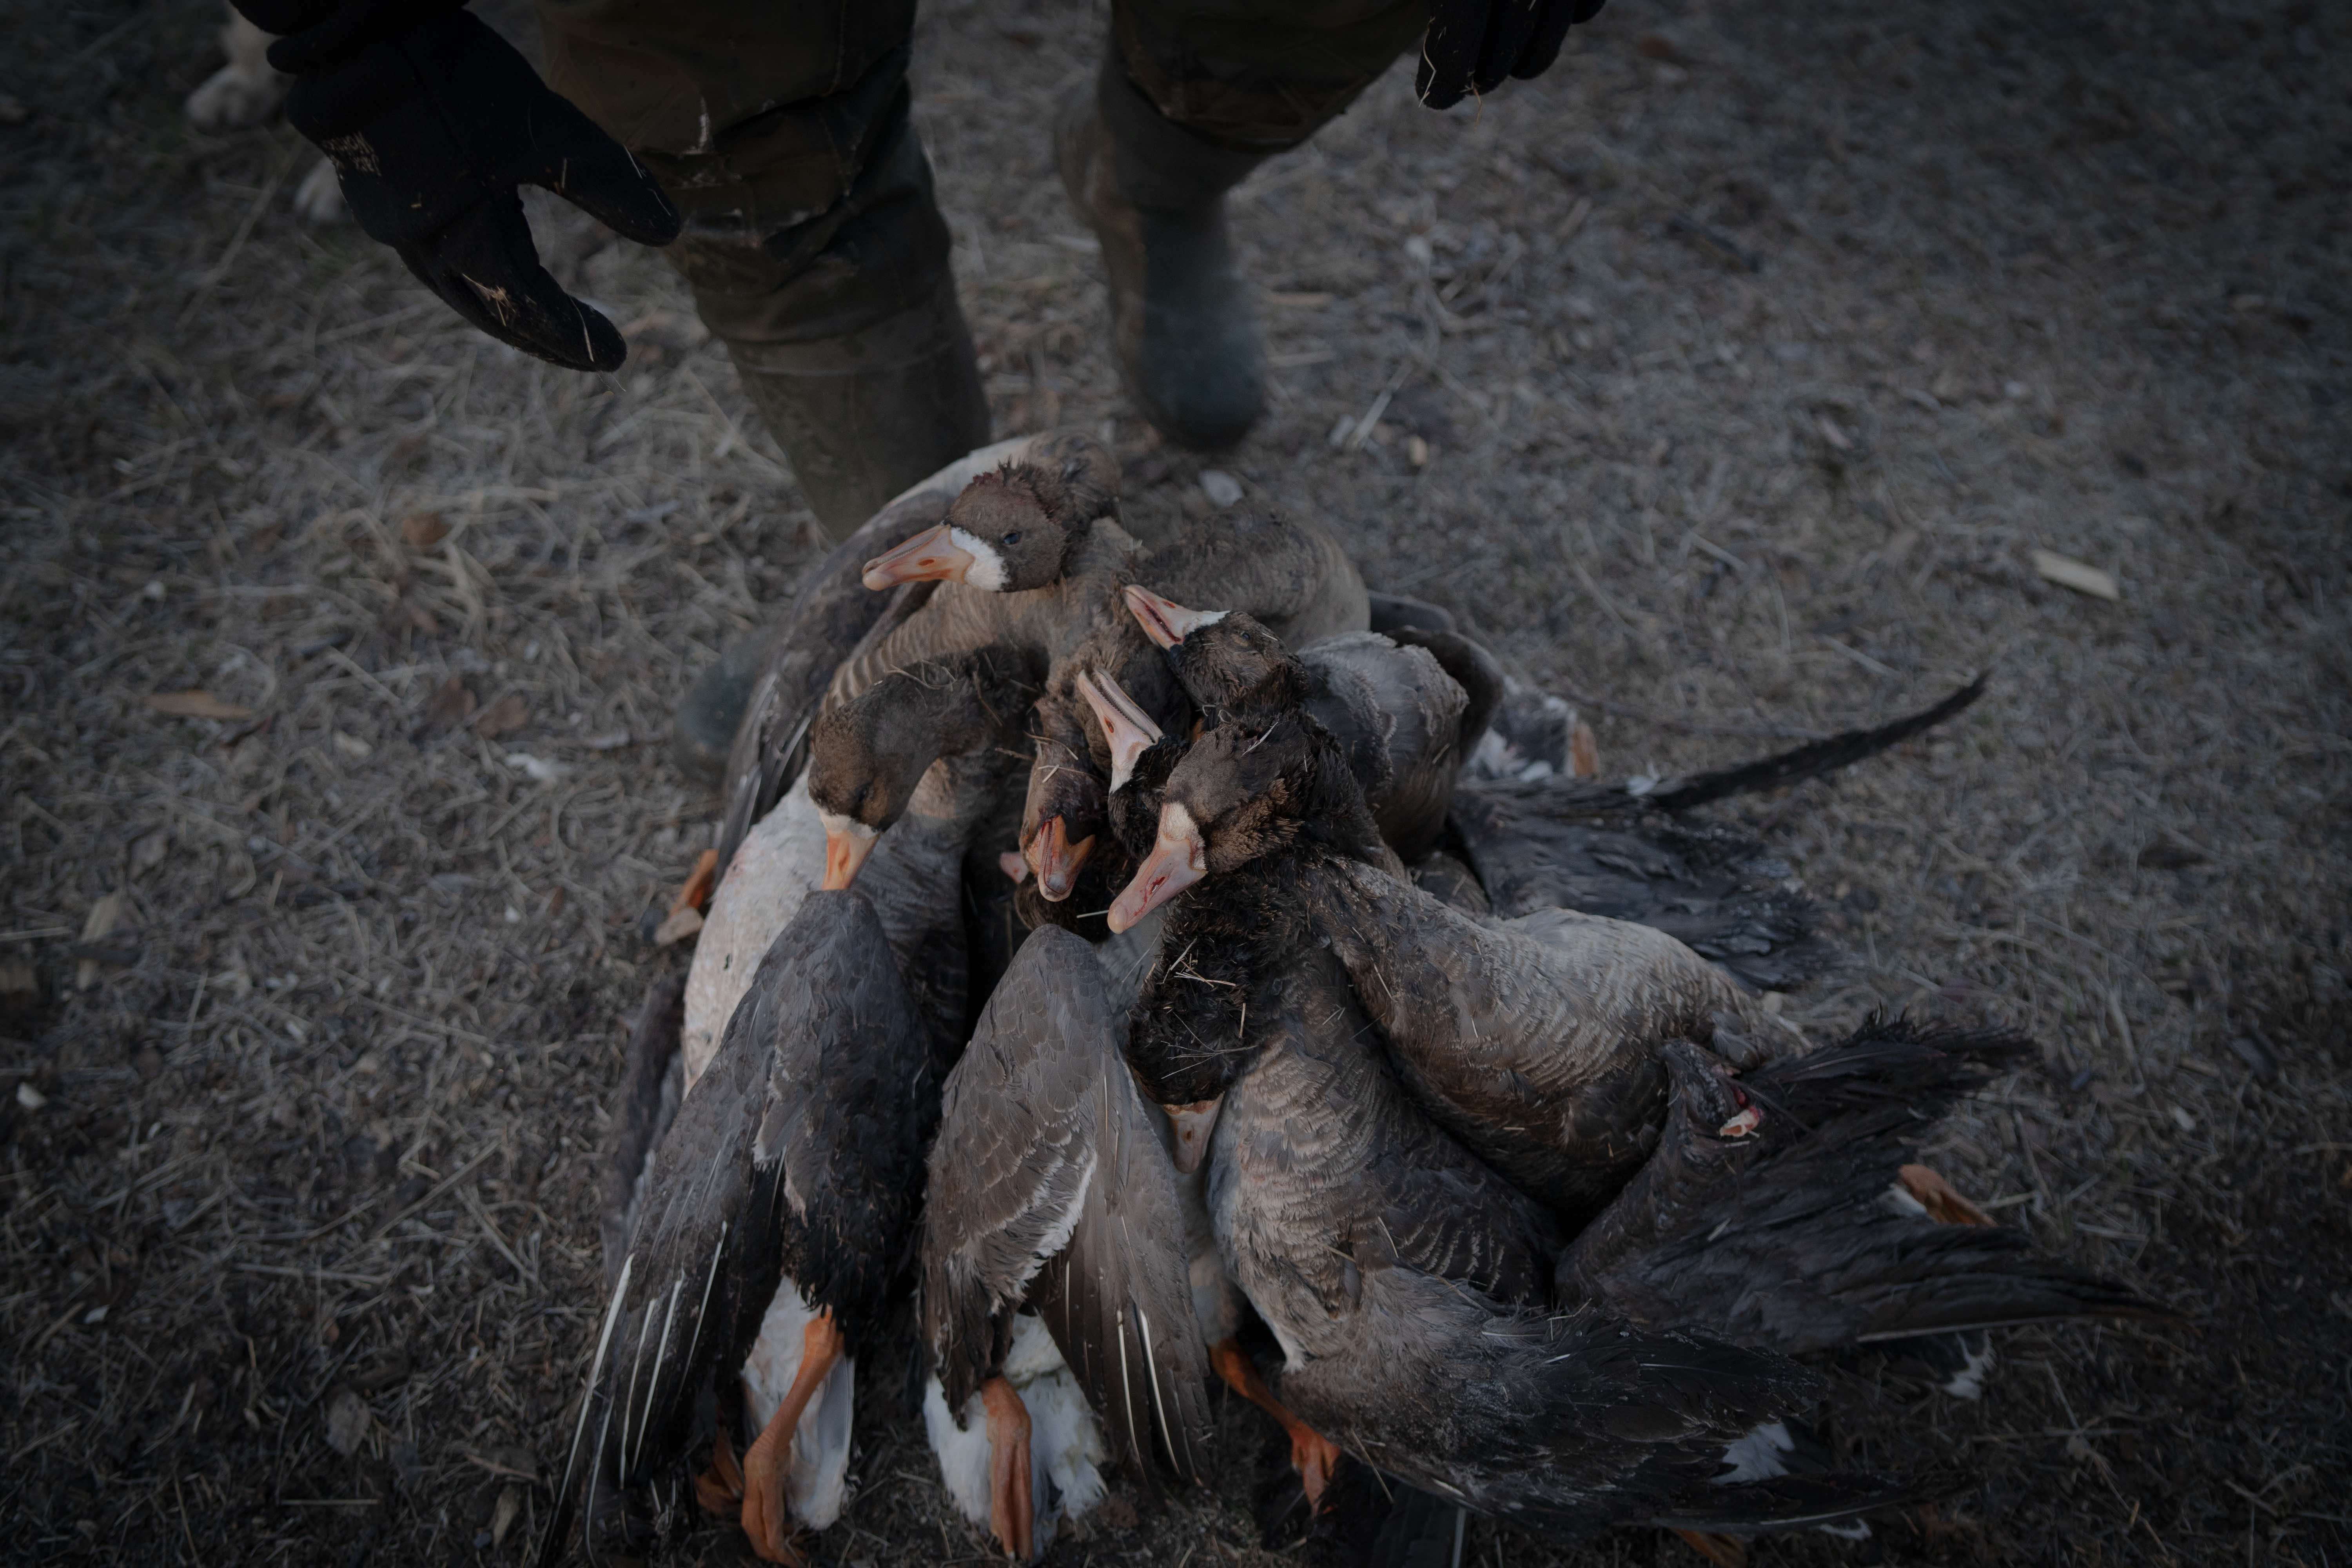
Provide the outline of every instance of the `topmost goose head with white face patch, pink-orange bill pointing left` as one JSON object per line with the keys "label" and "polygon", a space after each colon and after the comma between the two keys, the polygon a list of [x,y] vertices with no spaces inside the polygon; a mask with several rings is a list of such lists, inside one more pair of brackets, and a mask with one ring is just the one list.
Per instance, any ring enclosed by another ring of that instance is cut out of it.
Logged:
{"label": "topmost goose head with white face patch, pink-orange bill pointing left", "polygon": [[1018,461],[964,487],[948,515],[910,541],[866,562],[868,588],[948,581],[985,592],[1021,592],[1058,583],[1070,552],[1101,515],[1084,470]]}

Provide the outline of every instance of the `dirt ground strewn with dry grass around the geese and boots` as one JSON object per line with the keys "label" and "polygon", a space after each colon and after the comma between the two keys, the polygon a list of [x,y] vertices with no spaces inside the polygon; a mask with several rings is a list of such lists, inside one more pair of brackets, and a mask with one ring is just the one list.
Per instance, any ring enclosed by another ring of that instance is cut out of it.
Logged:
{"label": "dirt ground strewn with dry grass around the geese and boots", "polygon": [[[543,209],[619,378],[473,336],[296,226],[292,132],[186,129],[216,21],[0,12],[0,1556],[510,1563],[715,806],[668,712],[811,536],[659,256]],[[997,433],[1110,430],[1150,520],[1200,463],[1117,390],[1044,136],[1101,26],[936,5],[917,118]],[[1275,407],[1218,465],[1470,616],[1604,771],[1994,672],[1752,802],[1851,950],[1790,1016],[2032,1030],[1933,1161],[2183,1321],[2009,1333],[1978,1403],[1832,1368],[1842,1446],[1957,1490],[1759,1561],[2352,1556],[2347,61],[2310,0],[1616,0],[1482,106],[1392,75],[1235,205]],[[891,1382],[816,1561],[983,1559]],[[1275,1561],[1251,1420],[1054,1561]]]}

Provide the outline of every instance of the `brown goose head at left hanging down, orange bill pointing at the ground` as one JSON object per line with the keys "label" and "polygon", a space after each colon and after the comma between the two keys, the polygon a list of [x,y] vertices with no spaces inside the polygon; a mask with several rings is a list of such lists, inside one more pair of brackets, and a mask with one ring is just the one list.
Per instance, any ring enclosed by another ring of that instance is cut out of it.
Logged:
{"label": "brown goose head at left hanging down, orange bill pointing at the ground", "polygon": [[1025,656],[978,649],[891,670],[809,726],[809,799],[826,823],[826,886],[844,889],[941,757],[1016,745],[1035,698]]}

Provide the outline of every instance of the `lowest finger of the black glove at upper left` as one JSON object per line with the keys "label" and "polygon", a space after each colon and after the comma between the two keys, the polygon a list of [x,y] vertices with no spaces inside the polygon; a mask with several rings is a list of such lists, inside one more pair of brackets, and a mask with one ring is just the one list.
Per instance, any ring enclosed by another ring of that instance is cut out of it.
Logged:
{"label": "lowest finger of the black glove at upper left", "polygon": [[564,294],[539,266],[513,193],[468,207],[454,223],[397,252],[452,310],[501,343],[564,369],[612,371],[628,360],[619,327]]}

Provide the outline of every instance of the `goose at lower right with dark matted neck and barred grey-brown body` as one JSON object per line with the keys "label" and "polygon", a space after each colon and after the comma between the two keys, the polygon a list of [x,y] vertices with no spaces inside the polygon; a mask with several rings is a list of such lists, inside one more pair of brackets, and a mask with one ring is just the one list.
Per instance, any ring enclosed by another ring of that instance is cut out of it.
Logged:
{"label": "goose at lower right with dark matted neck and barred grey-brown body", "polygon": [[1282,1345],[1301,1472],[1345,1450],[1557,1533],[1766,1528],[1900,1495],[1870,1476],[1726,1476],[1811,1396],[1799,1368],[1543,1309],[1555,1220],[1388,1077],[1282,875],[1247,865],[1174,907],[1129,1065],[1162,1103],[1223,1100],[1211,1218]]}

